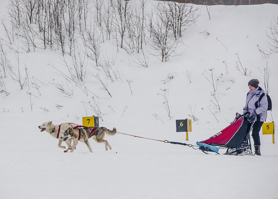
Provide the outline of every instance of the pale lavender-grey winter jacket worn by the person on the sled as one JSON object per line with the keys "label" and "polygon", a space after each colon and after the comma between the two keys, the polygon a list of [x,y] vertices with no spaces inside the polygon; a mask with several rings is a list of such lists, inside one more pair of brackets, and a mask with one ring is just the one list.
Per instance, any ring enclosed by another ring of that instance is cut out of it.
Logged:
{"label": "pale lavender-grey winter jacket worn by the person on the sled", "polygon": [[246,104],[243,108],[243,113],[253,113],[256,111],[255,121],[265,122],[267,119],[267,96],[263,96],[259,102],[259,97],[265,91],[259,86],[252,92],[249,90],[246,96]]}

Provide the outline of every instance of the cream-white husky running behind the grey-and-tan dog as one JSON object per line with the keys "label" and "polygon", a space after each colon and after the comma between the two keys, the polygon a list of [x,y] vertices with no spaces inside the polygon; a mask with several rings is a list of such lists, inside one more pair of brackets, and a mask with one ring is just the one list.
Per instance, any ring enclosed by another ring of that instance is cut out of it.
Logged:
{"label": "cream-white husky running behind the grey-and-tan dog", "polygon": [[[58,147],[65,149],[65,146],[61,146],[63,139],[61,139],[61,135],[62,133],[65,132],[65,130],[67,128],[71,128],[71,127],[76,127],[79,126],[78,124],[74,124],[74,123],[62,123],[62,124],[53,124],[52,121],[49,122],[44,122],[42,123],[42,125],[39,126],[39,129],[41,129],[41,132],[46,131],[48,132],[52,137],[55,137],[56,139],[59,140],[58,142]],[[64,150],[64,152],[66,153],[68,150],[71,149],[71,139],[66,141],[66,145],[68,146],[68,148],[66,150]]]}

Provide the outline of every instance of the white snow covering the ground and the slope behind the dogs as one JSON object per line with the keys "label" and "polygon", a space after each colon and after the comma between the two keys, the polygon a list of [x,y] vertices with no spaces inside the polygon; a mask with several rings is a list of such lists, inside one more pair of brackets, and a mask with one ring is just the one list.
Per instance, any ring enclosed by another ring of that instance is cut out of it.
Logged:
{"label": "white snow covering the ground and the slope behind the dogs", "polygon": [[[0,3],[2,17],[7,3]],[[148,7],[153,3],[157,2],[148,1]],[[277,18],[278,5],[211,6],[211,19],[205,6],[199,8],[196,25],[188,27],[182,37],[184,56],[172,57],[169,62],[150,56],[147,68],[132,67],[127,64],[131,55],[123,50],[116,53],[108,42],[103,43],[103,49],[115,58],[122,81],[103,78],[110,97],[93,77],[96,71],[87,66],[85,83],[99,96],[95,100],[102,112],[100,126],[195,145],[227,127],[236,112],[242,113],[250,79],[258,79],[264,89],[263,68],[267,63],[273,103],[267,122],[277,122],[278,53],[263,58],[257,45],[269,51],[266,32]],[[12,54],[10,61],[16,68]],[[51,67],[65,70],[61,57],[60,52],[48,49],[20,52],[20,62],[30,70],[29,77],[38,80],[38,90],[31,86],[21,90],[10,77],[3,79],[9,95],[0,94],[0,198],[278,198],[278,147],[271,135],[262,132],[262,156],[206,155],[188,146],[121,134],[106,136],[112,150],[105,151],[103,144],[90,140],[93,153],[84,143],[79,143],[73,153],[64,153],[57,147],[58,141],[40,132],[38,126],[49,120],[54,124],[82,124],[82,117],[96,113],[88,105],[93,101],[92,94],[87,96],[72,87],[73,95],[64,97],[52,84],[64,82]],[[247,68],[247,76],[236,69],[239,60]],[[214,79],[219,77],[218,113],[213,109],[212,84],[204,77],[211,68]],[[187,71],[191,83],[185,76]],[[169,76],[173,78],[169,80]],[[127,79],[132,81],[132,95]],[[163,107],[163,96],[157,95],[163,94],[163,89],[167,89],[171,119]],[[32,93],[32,111],[27,92]],[[176,132],[175,120],[191,119],[190,106],[198,121],[192,123],[186,141],[185,132]]]}

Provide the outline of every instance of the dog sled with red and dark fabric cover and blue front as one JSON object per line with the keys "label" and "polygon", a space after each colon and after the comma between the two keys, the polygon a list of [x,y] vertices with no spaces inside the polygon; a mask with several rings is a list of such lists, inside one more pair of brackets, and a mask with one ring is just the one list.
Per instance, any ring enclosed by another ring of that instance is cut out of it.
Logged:
{"label": "dog sled with red and dark fabric cover and blue front", "polygon": [[207,140],[196,142],[204,153],[226,149],[225,155],[253,155],[250,143],[254,117],[249,114],[242,116],[236,113],[235,120],[225,129],[216,133]]}

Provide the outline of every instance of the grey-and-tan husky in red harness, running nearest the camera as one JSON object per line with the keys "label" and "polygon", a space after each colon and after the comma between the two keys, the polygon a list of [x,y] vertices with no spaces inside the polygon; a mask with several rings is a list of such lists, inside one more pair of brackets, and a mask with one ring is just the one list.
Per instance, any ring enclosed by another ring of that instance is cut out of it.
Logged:
{"label": "grey-and-tan husky in red harness, running nearest the camera", "polygon": [[64,135],[61,137],[63,141],[67,141],[68,138],[71,138],[73,140],[73,144],[71,146],[71,151],[73,152],[75,150],[75,146],[78,144],[78,141],[84,142],[91,153],[93,153],[92,148],[89,144],[89,138],[93,137],[93,139],[97,143],[104,143],[105,144],[105,150],[108,150],[107,146],[111,150],[111,146],[107,142],[107,140],[103,140],[105,134],[107,135],[115,135],[116,134],[116,128],[114,127],[112,131],[108,130],[105,127],[83,127],[83,128],[72,128],[69,127],[64,132]]}

